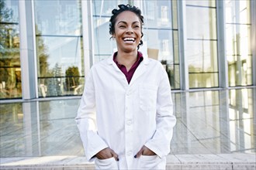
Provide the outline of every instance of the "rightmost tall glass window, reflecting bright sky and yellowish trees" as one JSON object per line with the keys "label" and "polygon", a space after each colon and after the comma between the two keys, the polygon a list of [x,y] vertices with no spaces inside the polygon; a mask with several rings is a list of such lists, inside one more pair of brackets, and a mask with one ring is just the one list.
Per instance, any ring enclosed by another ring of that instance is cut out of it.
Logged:
{"label": "rightmost tall glass window, reflecting bright sky and yellowish trees", "polygon": [[250,1],[225,1],[229,86],[252,84]]}

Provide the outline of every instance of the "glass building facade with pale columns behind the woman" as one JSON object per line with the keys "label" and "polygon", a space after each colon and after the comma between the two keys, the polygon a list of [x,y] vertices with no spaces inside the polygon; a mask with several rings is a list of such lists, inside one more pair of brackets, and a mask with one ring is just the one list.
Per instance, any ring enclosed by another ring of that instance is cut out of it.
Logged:
{"label": "glass building facade with pale columns behind the woman", "polygon": [[112,55],[119,4],[144,15],[140,50],[172,90],[256,85],[256,2],[244,0],[0,1],[0,99],[79,96],[88,70]]}

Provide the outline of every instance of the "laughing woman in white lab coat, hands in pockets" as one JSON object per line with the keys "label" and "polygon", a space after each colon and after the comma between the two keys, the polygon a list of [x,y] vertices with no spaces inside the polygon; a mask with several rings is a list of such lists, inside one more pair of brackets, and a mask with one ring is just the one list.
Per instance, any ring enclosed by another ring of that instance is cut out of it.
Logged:
{"label": "laughing woman in white lab coat, hands in pockets", "polygon": [[117,52],[92,66],[75,118],[88,161],[96,169],[164,169],[175,116],[161,63],[138,51],[139,8],[112,10],[109,32]]}

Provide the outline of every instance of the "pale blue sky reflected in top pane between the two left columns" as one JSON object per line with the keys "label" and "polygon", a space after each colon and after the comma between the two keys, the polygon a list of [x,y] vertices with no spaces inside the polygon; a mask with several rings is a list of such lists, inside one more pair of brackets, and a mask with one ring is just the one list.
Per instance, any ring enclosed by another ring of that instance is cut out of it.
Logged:
{"label": "pale blue sky reflected in top pane between the two left columns", "polygon": [[37,34],[81,35],[78,1],[35,1],[35,6]]}

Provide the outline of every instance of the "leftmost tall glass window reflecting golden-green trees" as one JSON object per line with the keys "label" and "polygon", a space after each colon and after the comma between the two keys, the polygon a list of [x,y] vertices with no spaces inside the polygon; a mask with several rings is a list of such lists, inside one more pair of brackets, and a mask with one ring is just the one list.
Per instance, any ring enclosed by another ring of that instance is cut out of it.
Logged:
{"label": "leftmost tall glass window reflecting golden-green trees", "polygon": [[0,99],[22,97],[19,2],[0,2]]}

